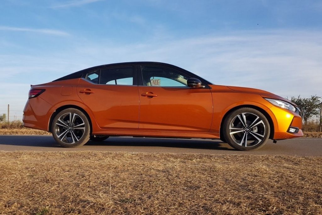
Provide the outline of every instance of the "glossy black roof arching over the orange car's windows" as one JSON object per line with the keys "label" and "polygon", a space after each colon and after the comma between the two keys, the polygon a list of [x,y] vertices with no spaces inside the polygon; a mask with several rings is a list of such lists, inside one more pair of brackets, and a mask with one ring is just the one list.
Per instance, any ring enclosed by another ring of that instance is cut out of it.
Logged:
{"label": "glossy black roof arching over the orange car's windows", "polygon": [[101,69],[101,68],[104,68],[104,67],[123,66],[123,65],[137,65],[137,64],[149,64],[149,65],[158,65],[158,66],[171,67],[171,68],[176,69],[176,70],[184,71],[185,73],[188,73],[189,75],[191,75],[193,77],[196,76],[205,84],[212,84],[209,81],[207,81],[207,80],[195,75],[194,73],[191,73],[191,72],[189,72],[189,71],[187,71],[185,69],[182,69],[180,67],[177,67],[175,65],[171,65],[171,64],[168,64],[168,63],[161,63],[161,62],[153,62],[153,61],[136,61],[136,62],[111,63],[111,64],[104,64],[104,65],[94,66],[94,67],[90,67],[90,68],[87,68],[87,69],[84,69],[84,70],[80,70],[80,71],[71,73],[69,75],[66,75],[66,76],[64,76],[62,78],[59,78],[59,79],[56,79],[56,80],[53,80],[53,81],[82,78],[83,75],[86,75],[88,72],[90,72],[92,70]]}

